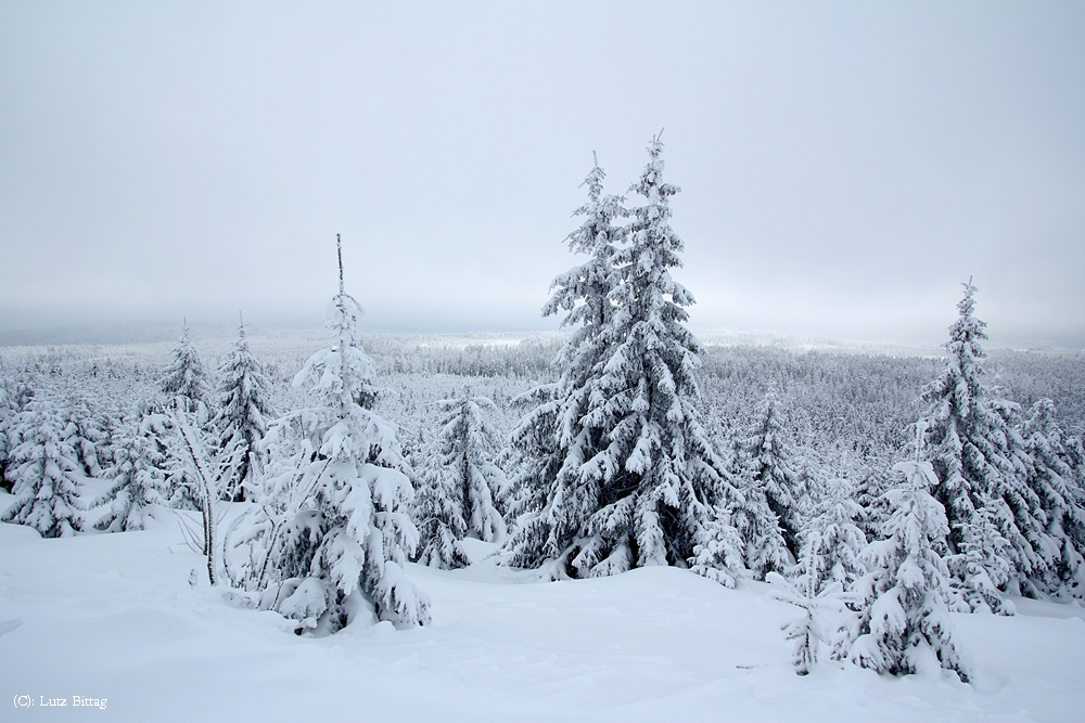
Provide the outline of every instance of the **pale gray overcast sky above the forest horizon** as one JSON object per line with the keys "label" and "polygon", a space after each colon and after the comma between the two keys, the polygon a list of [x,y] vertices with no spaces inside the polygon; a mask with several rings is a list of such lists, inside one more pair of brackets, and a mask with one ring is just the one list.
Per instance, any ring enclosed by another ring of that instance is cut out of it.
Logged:
{"label": "pale gray overcast sky above the forest horizon", "polygon": [[662,127],[694,328],[1085,346],[1082,2],[0,1],[0,330],[551,328]]}

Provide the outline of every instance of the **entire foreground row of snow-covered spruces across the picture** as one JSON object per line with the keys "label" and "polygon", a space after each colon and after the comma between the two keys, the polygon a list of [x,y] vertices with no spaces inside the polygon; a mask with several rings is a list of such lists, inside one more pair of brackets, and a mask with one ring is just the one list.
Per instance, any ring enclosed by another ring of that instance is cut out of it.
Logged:
{"label": "entire foreground row of snow-covered spruces across the picture", "polygon": [[[685,326],[693,298],[671,276],[682,242],[662,150],[654,138],[633,207],[603,193],[598,164],[589,172],[584,222],[569,236],[588,260],[554,280],[544,308],[564,312],[571,335],[553,380],[519,400],[527,412],[507,439],[493,402],[463,387],[436,403],[430,441],[405,454],[373,411],[376,369],[341,255],[334,345],[294,378],[314,392],[308,408],[271,410],[243,326],[214,390],[182,337],[158,392],[124,412],[5,378],[5,520],[77,531],[88,477],[112,482],[91,503],[101,529],[194,507],[213,581],[225,574],[298,632],[359,615],[425,623],[430,603],[404,566],[464,566],[468,538],[550,580],[652,565],[728,586],[768,579],[803,610],[788,628],[800,672],[828,655],[903,673],[934,655],[967,680],[950,610],[1012,614],[1007,593],[1085,596],[1082,441],[1050,400],[1024,412],[991,385],[971,283],[911,441],[880,474],[835,479],[801,464],[771,388],[748,427],[702,424],[705,349]],[[245,504],[224,528],[216,501]]]}

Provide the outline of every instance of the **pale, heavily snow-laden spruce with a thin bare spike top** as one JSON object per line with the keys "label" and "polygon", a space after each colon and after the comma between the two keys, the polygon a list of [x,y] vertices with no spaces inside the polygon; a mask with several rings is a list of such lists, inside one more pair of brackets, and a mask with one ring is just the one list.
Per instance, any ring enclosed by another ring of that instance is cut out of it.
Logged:
{"label": "pale, heavily snow-laden spruce with a thin bare spike top", "polygon": [[[260,605],[297,621],[298,632],[335,632],[371,605],[382,620],[423,624],[429,601],[404,573],[418,544],[409,511],[410,469],[396,428],[366,409],[373,362],[359,348],[358,302],[343,289],[328,306],[335,346],[294,378],[323,405],[275,422],[261,443],[270,457],[257,512],[231,531],[231,578],[261,593]],[[319,627],[319,628],[318,628]]]}

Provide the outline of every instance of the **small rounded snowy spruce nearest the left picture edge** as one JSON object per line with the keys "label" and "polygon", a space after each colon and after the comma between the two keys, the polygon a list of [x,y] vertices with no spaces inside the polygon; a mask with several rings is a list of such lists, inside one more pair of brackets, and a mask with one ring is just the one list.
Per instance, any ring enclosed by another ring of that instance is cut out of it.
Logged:
{"label": "small rounded snowy spruce nearest the left picture edge", "polygon": [[7,469],[15,503],[3,521],[27,525],[46,538],[82,530],[79,491],[85,477],[72,441],[75,431],[47,399],[34,399],[16,415]]}

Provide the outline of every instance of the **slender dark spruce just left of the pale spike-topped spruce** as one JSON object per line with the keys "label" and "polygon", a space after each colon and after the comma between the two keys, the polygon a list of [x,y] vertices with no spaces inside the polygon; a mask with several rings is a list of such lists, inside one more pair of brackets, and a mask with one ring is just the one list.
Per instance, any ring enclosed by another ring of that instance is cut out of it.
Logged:
{"label": "slender dark spruce just left of the pale spike-topped spruce", "polygon": [[218,367],[218,414],[214,419],[219,447],[237,444],[240,466],[227,480],[224,494],[229,500],[245,499],[244,482],[250,479],[250,454],[267,434],[267,419],[273,416],[268,401],[268,382],[259,361],[248,350],[244,322],[238,327],[238,340]]}

